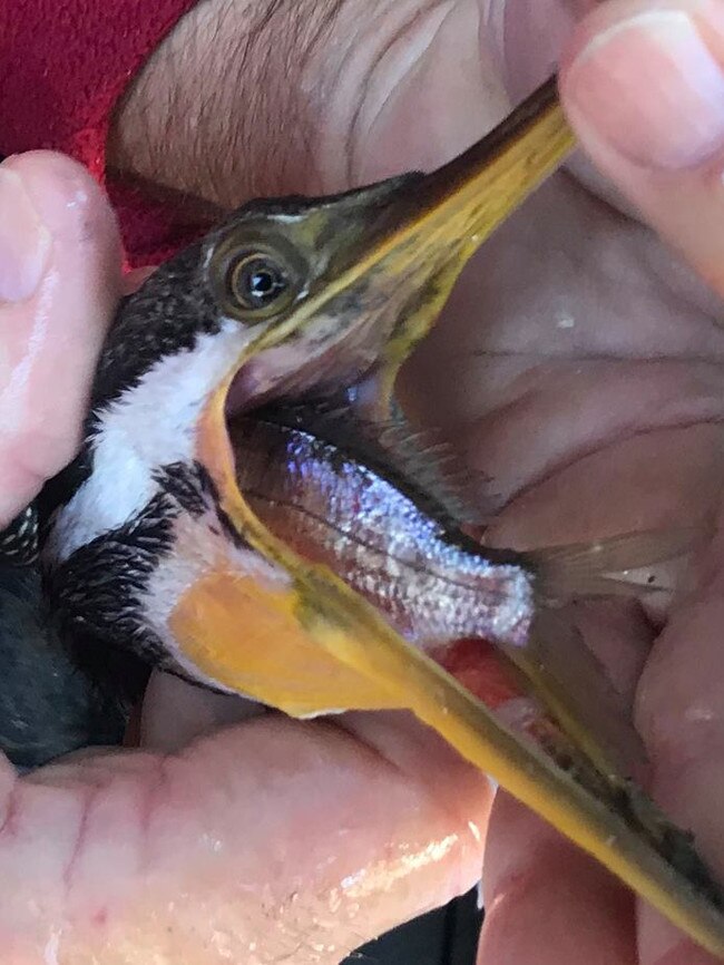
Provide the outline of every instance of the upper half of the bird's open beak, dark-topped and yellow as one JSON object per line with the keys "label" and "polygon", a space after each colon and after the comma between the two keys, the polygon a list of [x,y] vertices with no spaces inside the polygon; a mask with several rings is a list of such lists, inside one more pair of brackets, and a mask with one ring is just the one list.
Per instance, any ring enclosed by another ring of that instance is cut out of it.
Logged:
{"label": "upper half of the bird's open beak, dark-topped and yellow", "polygon": [[312,435],[319,412],[336,407],[345,441],[362,446],[355,451],[362,461],[368,441],[384,452],[380,440],[400,364],[470,256],[571,147],[554,79],[437,170],[324,205],[315,216],[324,230],[314,237],[330,267],[288,316],[262,331],[223,399],[219,393],[216,413],[223,403],[227,441],[234,420],[263,406],[267,413],[294,406],[295,425]]}

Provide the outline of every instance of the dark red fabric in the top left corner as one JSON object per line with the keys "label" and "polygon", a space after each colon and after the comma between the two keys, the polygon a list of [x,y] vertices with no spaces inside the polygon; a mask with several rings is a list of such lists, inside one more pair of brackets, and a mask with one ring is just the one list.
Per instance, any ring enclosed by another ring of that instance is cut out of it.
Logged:
{"label": "dark red fabric in the top left corner", "polygon": [[194,234],[173,207],[107,183],[110,116],[128,81],[197,0],[0,0],[0,155],[78,158],[118,211],[130,264],[154,264]]}

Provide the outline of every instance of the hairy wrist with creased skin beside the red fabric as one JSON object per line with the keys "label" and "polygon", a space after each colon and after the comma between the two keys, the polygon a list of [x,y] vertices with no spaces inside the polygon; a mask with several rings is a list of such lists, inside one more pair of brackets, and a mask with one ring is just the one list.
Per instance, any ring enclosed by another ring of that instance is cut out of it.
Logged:
{"label": "hairy wrist with creased skin beside the red fabric", "polygon": [[[474,2],[205,0],[131,84],[109,167],[232,207],[436,166],[506,110],[461,13],[474,27]],[[477,64],[452,86],[459,128],[425,95],[448,89],[453,57]]]}

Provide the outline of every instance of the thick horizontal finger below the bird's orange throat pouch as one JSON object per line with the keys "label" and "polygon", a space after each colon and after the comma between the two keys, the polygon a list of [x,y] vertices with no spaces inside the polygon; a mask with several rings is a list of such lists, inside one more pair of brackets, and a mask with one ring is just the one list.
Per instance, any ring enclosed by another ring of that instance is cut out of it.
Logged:
{"label": "thick horizontal finger below the bird's orange throat pouch", "polygon": [[[402,714],[3,770],[3,961],[336,965],[479,875],[487,782]],[[112,868],[112,874],[108,869]]]}

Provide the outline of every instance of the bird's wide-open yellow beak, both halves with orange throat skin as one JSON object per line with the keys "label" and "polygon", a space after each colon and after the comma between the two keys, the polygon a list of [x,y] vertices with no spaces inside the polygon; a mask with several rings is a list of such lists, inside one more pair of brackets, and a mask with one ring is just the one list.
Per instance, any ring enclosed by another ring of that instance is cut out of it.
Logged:
{"label": "bird's wide-open yellow beak, both halves with orange throat skin", "polygon": [[[333,255],[299,311],[265,331],[218,388],[198,433],[198,458],[236,529],[237,553],[248,553],[250,561],[262,556],[268,566],[250,563],[241,573],[228,561],[219,562],[189,588],[170,625],[185,656],[209,678],[292,715],[413,711],[724,958],[720,909],[661,857],[624,813],[503,727],[334,573],[291,552],[251,513],[235,479],[225,409],[239,372],[252,373],[248,384],[267,397],[303,393],[324,381],[351,382],[375,371],[382,383],[376,404],[384,408],[399,365],[428,331],[466,261],[571,145],[555,85],[549,84],[441,169],[331,199],[317,221],[310,222],[305,230],[319,247],[334,234],[330,224],[337,218]],[[339,331],[329,331],[332,316],[344,318]],[[302,345],[304,352],[295,357],[294,371],[285,371],[292,343],[294,351]]]}

